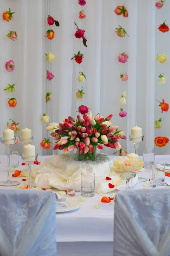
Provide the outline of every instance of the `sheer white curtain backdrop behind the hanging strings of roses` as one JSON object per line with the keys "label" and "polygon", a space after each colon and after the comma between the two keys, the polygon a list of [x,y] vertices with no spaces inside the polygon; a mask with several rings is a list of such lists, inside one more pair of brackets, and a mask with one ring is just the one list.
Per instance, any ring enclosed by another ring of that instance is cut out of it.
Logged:
{"label": "sheer white curtain backdrop behind the hanging strings of roses", "polygon": [[[20,122],[19,128],[27,125],[32,129],[34,145],[38,154],[51,154],[52,150],[42,149],[40,142],[47,138],[46,125],[40,121],[42,113],[47,112],[51,122],[62,121],[69,115],[77,115],[79,105],[91,108],[92,113],[108,116],[113,113],[113,125],[125,131],[126,141],[121,141],[122,148],[132,151],[133,145],[128,140],[130,129],[136,125],[142,127],[144,142],[139,145],[139,154],[145,147],[154,147],[157,136],[170,137],[168,125],[169,112],[161,114],[159,101],[170,100],[168,64],[169,33],[161,33],[157,29],[164,22],[170,25],[170,2],[165,1],[162,9],[155,8],[155,0],[87,0],[85,6],[79,6],[78,0],[2,0],[0,13],[10,7],[14,21],[0,20],[0,133],[9,119]],[[114,9],[124,5],[129,17],[117,16]],[[79,11],[86,12],[86,19],[79,20]],[[59,27],[48,26],[47,17],[51,15],[60,23]],[[88,39],[86,48],[81,39],[74,36],[77,23],[85,30]],[[118,25],[125,28],[129,37],[119,38],[115,33]],[[46,31],[51,28],[55,32],[53,40],[45,38]],[[7,30],[17,31],[18,40],[10,41],[6,37]],[[71,58],[80,50],[85,56],[81,65]],[[52,52],[56,60],[49,63],[44,53]],[[119,52],[129,54],[127,63],[117,60]],[[156,62],[156,55],[163,52],[167,62]],[[15,70],[8,73],[6,61],[12,59]],[[54,74],[54,79],[46,80],[46,70]],[[77,81],[79,72],[86,75],[84,83]],[[120,74],[127,72],[129,79],[122,82]],[[167,77],[165,85],[158,84],[159,73]],[[11,109],[6,98],[10,95],[3,89],[6,84],[14,84],[17,106]],[[81,101],[76,99],[77,89],[83,84],[86,95]],[[119,98],[122,91],[127,92],[127,104],[123,109],[127,112],[124,118],[119,117]],[[52,92],[53,100],[45,104],[45,93]],[[170,102],[169,102],[170,103]],[[154,128],[155,120],[162,121],[162,128]],[[17,135],[20,135],[18,133]],[[23,151],[22,145],[13,150]],[[170,154],[170,145],[164,148],[155,147],[156,154]],[[109,149],[113,154],[115,150]],[[5,154],[5,147],[0,146],[0,154]]]}

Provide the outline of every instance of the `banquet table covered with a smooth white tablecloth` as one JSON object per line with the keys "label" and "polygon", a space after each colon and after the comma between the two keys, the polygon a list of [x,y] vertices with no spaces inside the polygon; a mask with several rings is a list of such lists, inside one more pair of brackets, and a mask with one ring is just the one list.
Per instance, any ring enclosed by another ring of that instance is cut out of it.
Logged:
{"label": "banquet table covered with a smooth white tablecloth", "polygon": [[[111,159],[114,157],[111,156]],[[44,159],[45,156],[38,156],[39,162],[42,162]],[[1,181],[7,179],[7,157],[1,155],[0,162]],[[20,158],[20,166],[17,168],[19,170],[25,168],[21,163],[22,160]],[[170,155],[155,156],[155,163],[170,163]],[[35,164],[32,166],[39,167]],[[144,173],[139,173],[139,176],[149,178],[149,173],[149,170],[145,170]],[[18,180],[21,184],[26,184],[22,179],[23,177],[11,177],[11,180]],[[165,182],[170,183],[170,177],[165,177]],[[13,188],[0,186],[0,189]],[[150,188],[149,181],[147,180],[144,183],[136,184],[134,189],[154,188]],[[169,188],[167,187],[167,189]],[[53,189],[53,191],[55,192],[57,189]],[[76,192],[74,199],[78,199],[79,196],[80,192]],[[85,202],[81,202],[79,209],[56,214],[57,256],[113,256],[114,205],[101,203],[101,198],[102,195],[95,194],[94,197],[87,198]],[[95,204],[99,204],[101,209],[96,209],[94,207]]]}

